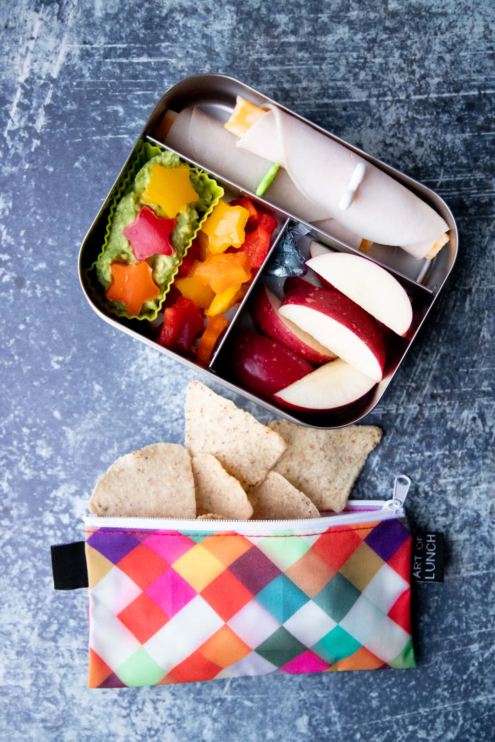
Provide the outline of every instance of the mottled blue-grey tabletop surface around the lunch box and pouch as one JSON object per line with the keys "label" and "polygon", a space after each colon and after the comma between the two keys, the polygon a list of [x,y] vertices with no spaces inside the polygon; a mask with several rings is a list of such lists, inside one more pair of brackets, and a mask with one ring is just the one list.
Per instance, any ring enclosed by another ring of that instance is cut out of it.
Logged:
{"label": "mottled blue-grey tabletop surface around the lunch box and pouch", "polygon": [[[0,16],[0,738],[493,739],[492,2],[16,0]],[[204,72],[396,165],[456,216],[459,260],[367,420],[385,437],[355,488],[388,496],[408,473],[411,515],[448,539],[445,584],[417,590],[416,671],[85,687],[87,595],[53,591],[49,546],[81,538],[115,457],[182,441],[194,373],[99,320],[77,253],[157,100]]]}

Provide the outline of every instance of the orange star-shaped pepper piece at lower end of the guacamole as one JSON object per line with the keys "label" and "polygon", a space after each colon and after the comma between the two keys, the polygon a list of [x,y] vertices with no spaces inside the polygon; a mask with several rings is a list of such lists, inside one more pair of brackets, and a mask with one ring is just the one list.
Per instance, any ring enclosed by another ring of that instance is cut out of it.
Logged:
{"label": "orange star-shaped pepper piece at lower end of the guacamole", "polygon": [[114,282],[108,287],[106,297],[109,301],[122,301],[129,317],[137,317],[145,301],[156,299],[160,294],[146,260],[130,265],[112,263],[111,269]]}

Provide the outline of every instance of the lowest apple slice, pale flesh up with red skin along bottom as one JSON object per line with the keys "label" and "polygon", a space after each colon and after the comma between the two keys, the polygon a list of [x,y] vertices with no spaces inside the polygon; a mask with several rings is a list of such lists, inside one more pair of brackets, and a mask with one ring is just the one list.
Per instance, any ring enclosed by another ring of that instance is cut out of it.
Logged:
{"label": "lowest apple slice, pale flesh up with red skin along bottom", "polygon": [[367,394],[376,381],[337,358],[273,395],[292,410],[324,412],[341,410]]}

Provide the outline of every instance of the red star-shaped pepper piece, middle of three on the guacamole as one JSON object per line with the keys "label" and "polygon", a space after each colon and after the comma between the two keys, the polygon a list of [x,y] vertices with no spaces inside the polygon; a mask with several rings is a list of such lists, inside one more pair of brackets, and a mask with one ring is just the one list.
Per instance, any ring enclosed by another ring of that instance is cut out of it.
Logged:
{"label": "red star-shaped pepper piece, middle of three on the guacamole", "polygon": [[168,237],[174,229],[174,219],[157,217],[149,206],[137,212],[134,222],[122,229],[122,234],[131,243],[136,260],[146,260],[151,255],[173,255],[174,248]]}

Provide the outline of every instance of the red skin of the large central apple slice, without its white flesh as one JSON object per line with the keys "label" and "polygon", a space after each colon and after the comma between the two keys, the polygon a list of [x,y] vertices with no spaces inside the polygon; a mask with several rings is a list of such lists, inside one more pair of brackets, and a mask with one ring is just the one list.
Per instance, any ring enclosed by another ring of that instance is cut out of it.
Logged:
{"label": "red skin of the large central apple slice, without its white flesh", "polygon": [[318,312],[340,322],[350,329],[373,352],[383,372],[386,361],[386,350],[376,320],[361,306],[344,294],[330,289],[309,286],[289,292],[281,306],[298,304],[309,306]]}

